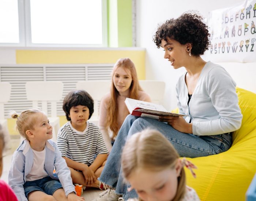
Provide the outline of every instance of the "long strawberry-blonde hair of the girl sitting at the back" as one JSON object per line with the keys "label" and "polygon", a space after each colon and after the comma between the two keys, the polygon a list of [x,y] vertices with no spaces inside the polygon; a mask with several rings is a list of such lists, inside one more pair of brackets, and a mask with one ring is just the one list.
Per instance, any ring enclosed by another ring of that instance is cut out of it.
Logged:
{"label": "long strawberry-blonde hair of the girl sitting at the back", "polygon": [[113,77],[114,73],[117,68],[122,67],[124,68],[125,71],[131,72],[132,76],[132,83],[130,86],[130,91],[129,91],[129,98],[132,99],[138,99],[138,92],[143,91],[142,88],[139,85],[138,81],[138,76],[136,73],[135,65],[134,63],[129,59],[129,58],[120,58],[117,60],[116,64],[114,65],[113,71],[112,71],[112,83],[110,87],[110,100],[108,104],[108,113],[107,113],[107,127],[110,128],[113,132],[113,138],[117,136],[118,132],[118,126],[116,124],[117,122],[117,113],[118,113],[118,108],[117,108],[117,97],[118,97],[118,91],[116,87],[114,86],[113,83]]}

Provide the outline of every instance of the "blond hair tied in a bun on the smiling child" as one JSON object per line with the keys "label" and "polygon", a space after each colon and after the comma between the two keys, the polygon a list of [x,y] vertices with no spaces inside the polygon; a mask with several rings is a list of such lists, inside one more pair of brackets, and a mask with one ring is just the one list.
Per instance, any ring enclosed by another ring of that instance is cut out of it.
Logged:
{"label": "blond hair tied in a bun on the smiling child", "polygon": [[18,115],[15,111],[12,111],[11,117],[17,119],[16,129],[22,137],[28,139],[26,131],[34,128],[35,118],[33,118],[33,115],[37,113],[44,112],[39,109],[30,109],[22,111],[20,115]]}

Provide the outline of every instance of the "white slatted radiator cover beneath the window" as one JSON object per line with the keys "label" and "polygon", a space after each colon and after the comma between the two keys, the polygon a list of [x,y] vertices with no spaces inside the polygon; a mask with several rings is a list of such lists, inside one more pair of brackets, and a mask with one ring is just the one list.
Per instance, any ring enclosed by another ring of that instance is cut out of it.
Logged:
{"label": "white slatted radiator cover beneath the window", "polygon": [[[0,81],[7,81],[12,85],[11,99],[8,103],[4,104],[5,118],[10,118],[10,110],[15,110],[20,113],[32,107],[32,102],[26,99],[26,81],[62,81],[64,84],[64,98],[70,90],[76,89],[77,81],[110,80],[113,65],[114,64],[0,65]],[[57,103],[57,115],[65,115],[62,110],[63,98]],[[48,105],[48,108],[48,113],[50,114],[50,105]]]}

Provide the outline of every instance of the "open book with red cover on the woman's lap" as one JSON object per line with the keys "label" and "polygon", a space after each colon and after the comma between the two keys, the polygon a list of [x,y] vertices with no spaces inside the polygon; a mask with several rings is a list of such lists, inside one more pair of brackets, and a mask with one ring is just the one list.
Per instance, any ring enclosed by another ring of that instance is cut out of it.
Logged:
{"label": "open book with red cover on the woman's lap", "polygon": [[146,101],[139,101],[131,98],[125,99],[125,105],[129,110],[129,113],[138,117],[150,117],[153,119],[159,119],[159,116],[185,116],[183,114],[176,114],[168,112],[162,105],[150,103]]}

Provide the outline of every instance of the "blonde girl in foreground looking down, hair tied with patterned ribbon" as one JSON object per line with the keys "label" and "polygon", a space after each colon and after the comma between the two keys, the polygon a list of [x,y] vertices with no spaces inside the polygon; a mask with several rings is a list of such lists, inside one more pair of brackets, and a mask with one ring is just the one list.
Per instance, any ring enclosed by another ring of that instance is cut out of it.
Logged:
{"label": "blonde girl in foreground looking down, hair tied with patterned ribbon", "polygon": [[[124,178],[143,201],[199,201],[196,191],[186,186],[184,165],[193,176],[196,168],[180,159],[173,145],[157,130],[131,136],[122,153]],[[123,200],[123,198],[119,198]]]}

